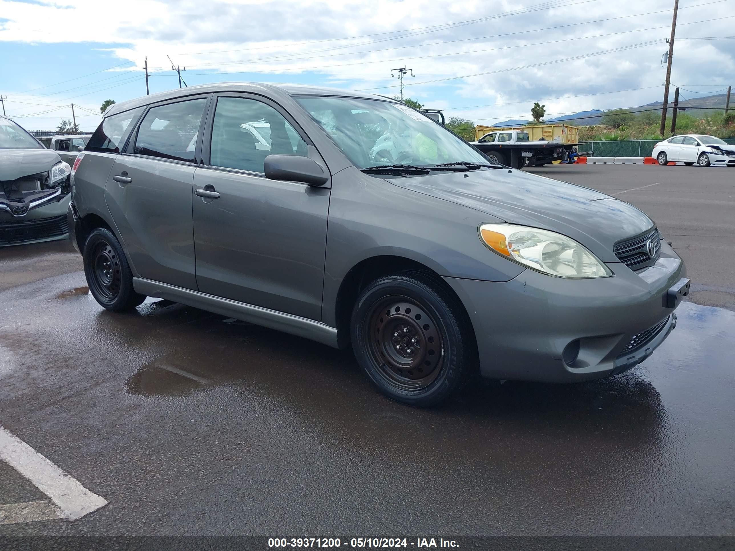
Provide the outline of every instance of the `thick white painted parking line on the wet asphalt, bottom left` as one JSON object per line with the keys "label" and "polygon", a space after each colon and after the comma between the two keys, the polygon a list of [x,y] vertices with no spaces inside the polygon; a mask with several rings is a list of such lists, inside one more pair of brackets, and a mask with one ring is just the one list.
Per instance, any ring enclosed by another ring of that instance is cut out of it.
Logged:
{"label": "thick white painted parking line on the wet asphalt, bottom left", "polygon": [[[63,519],[81,519],[85,514],[107,505],[107,500],[87,490],[79,480],[67,475],[2,426],[0,426],[0,459],[49,496],[59,508]],[[31,508],[29,511],[37,510]]]}

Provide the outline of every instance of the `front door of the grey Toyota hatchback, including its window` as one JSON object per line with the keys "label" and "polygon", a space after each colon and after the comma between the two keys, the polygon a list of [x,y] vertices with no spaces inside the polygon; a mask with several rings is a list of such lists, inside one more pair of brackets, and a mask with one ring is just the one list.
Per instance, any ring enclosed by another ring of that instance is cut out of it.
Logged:
{"label": "front door of the grey Toyota hatchback, including its window", "polygon": [[[209,166],[196,170],[193,190],[199,290],[320,320],[330,190],[270,180],[263,161],[303,155],[326,165],[276,104],[220,96],[210,119]],[[257,148],[252,128],[267,149]]]}

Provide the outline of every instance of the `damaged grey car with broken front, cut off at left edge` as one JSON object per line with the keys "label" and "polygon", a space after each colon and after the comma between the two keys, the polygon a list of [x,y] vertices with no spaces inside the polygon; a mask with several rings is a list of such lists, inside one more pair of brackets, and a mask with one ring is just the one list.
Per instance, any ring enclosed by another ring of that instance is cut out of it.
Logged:
{"label": "damaged grey car with broken front, cut off at left edge", "polygon": [[0,117],[0,247],[68,237],[71,167]]}

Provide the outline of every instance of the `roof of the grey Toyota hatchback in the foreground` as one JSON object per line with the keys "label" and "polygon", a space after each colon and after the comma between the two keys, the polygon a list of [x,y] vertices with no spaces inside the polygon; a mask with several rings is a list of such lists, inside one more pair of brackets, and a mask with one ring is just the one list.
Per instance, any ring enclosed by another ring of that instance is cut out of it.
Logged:
{"label": "roof of the grey Toyota hatchback in the foreground", "polygon": [[157,101],[166,101],[168,99],[196,96],[197,94],[208,94],[212,92],[250,92],[262,94],[263,96],[268,96],[276,100],[279,97],[287,98],[288,96],[346,96],[349,98],[380,99],[381,101],[386,101],[386,98],[383,96],[364,94],[340,88],[304,86],[301,84],[268,84],[263,82],[215,82],[212,84],[198,84],[197,86],[176,88],[167,92],[159,92],[150,96],[122,101],[119,104],[112,104],[104,112],[104,116],[108,117],[115,115],[115,113],[135,109],[136,107],[156,103]]}

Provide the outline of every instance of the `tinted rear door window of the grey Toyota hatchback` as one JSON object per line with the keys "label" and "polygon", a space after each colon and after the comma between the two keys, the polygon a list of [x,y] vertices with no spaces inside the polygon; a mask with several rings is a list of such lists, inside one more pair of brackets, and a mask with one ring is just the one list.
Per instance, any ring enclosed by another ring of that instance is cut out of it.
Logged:
{"label": "tinted rear door window of the grey Toyota hatchback", "polygon": [[194,162],[196,137],[207,99],[192,99],[150,109],[140,123],[135,153]]}

